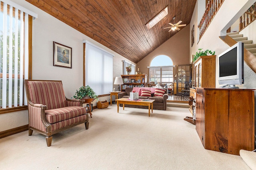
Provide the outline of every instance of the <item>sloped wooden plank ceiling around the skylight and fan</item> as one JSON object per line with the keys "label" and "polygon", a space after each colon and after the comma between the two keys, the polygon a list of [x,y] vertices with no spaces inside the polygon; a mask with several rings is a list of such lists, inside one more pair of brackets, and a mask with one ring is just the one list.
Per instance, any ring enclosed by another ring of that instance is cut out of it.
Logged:
{"label": "sloped wooden plank ceiling around the skylight and fan", "polygon": [[[196,4],[196,0],[26,1],[134,63],[178,32],[164,29],[169,22],[188,25]],[[148,30],[145,24],[166,6],[168,15]]]}

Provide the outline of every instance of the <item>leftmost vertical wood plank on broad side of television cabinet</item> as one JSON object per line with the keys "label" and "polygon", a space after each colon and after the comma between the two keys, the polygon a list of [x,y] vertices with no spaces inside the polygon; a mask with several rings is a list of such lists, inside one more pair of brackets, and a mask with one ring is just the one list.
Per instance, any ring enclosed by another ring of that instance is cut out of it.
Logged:
{"label": "leftmost vertical wood plank on broad side of television cabinet", "polygon": [[[228,91],[205,90],[205,149],[228,152]],[[214,120],[214,121],[213,121]]]}

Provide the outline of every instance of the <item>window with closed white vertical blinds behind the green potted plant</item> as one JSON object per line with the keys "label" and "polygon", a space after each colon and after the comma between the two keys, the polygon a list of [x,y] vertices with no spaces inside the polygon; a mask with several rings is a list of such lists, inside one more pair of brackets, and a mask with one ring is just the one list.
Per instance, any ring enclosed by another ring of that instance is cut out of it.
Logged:
{"label": "window with closed white vertical blinds behind the green potted plant", "polygon": [[89,85],[98,96],[112,92],[113,57],[106,50],[86,41],[85,85]]}

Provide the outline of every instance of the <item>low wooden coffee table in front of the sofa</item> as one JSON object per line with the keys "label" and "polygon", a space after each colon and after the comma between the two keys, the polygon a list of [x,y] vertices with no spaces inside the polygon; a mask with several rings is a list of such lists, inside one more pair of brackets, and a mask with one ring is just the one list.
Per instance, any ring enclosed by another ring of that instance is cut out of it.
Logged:
{"label": "low wooden coffee table in front of the sofa", "polygon": [[153,113],[153,102],[155,100],[130,100],[128,98],[120,98],[116,99],[116,105],[117,105],[117,113],[119,112],[119,104],[123,104],[123,110],[124,110],[124,105],[125,104],[132,104],[132,105],[138,105],[138,106],[148,106],[148,116],[150,116],[150,107],[151,107],[151,112]]}

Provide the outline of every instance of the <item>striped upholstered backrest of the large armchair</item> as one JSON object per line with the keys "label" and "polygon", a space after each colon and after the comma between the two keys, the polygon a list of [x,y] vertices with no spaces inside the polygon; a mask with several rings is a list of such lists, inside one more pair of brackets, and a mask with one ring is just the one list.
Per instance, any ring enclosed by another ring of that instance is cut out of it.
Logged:
{"label": "striped upholstered backrest of the large armchair", "polygon": [[46,105],[46,109],[66,107],[61,81],[28,81],[31,102]]}

